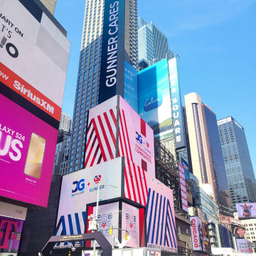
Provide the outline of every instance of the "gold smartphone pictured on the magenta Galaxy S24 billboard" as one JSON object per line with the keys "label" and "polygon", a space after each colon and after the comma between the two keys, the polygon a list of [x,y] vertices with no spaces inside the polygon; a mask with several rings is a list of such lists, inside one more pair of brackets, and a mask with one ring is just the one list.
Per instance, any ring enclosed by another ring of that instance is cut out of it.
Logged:
{"label": "gold smartphone pictured on the magenta Galaxy S24 billboard", "polygon": [[39,136],[38,134],[32,133],[28,147],[28,155],[26,158],[24,174],[34,178],[41,177],[45,149],[46,139]]}

